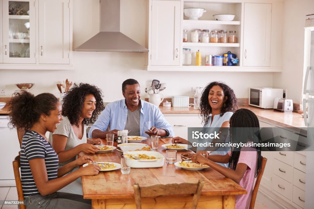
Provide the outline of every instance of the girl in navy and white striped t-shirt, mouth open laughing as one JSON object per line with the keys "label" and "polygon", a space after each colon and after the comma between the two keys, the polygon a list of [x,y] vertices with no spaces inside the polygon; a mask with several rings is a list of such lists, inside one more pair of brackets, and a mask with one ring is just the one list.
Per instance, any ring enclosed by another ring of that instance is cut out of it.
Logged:
{"label": "girl in navy and white striped t-shirt, mouth open laughing", "polygon": [[54,132],[62,121],[61,105],[49,93],[36,97],[27,91],[14,93],[10,101],[10,124],[24,128],[21,146],[21,181],[27,209],[90,208],[83,196],[57,192],[83,175],[97,175],[100,167],[92,164],[65,175],[79,165],[91,162],[83,156],[58,168],[58,155],[45,136]]}

